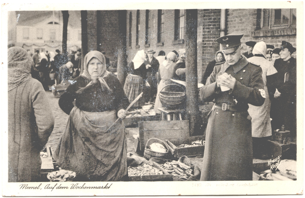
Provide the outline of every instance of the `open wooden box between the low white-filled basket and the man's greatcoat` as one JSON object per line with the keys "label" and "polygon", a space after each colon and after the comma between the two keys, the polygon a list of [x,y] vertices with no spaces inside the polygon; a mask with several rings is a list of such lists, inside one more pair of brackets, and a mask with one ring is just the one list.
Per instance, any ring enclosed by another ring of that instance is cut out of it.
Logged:
{"label": "open wooden box between the low white-filled basket and the man's greatcoat", "polygon": [[191,145],[192,142],[196,140],[205,139],[205,136],[198,135],[198,136],[190,136],[185,138],[178,138],[174,140],[165,140],[165,142],[170,147],[169,150],[171,154],[175,158],[180,158],[182,156],[197,156],[197,155],[203,155],[204,154],[204,145],[202,146],[196,146],[196,147],[182,147],[178,148],[177,146],[182,144]]}

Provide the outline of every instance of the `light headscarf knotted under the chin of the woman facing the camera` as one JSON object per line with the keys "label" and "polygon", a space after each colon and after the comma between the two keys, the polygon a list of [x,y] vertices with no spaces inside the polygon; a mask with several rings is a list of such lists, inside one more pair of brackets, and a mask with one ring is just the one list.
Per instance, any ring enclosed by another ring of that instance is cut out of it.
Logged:
{"label": "light headscarf knotted under the chin of the woman facing the camera", "polygon": [[[88,72],[88,64],[93,58],[98,59],[102,63],[102,67],[104,69],[98,77],[92,77],[92,76],[90,76],[90,74]],[[81,74],[82,76],[86,77],[90,81],[92,81],[92,80],[94,80],[96,82],[99,81],[101,83],[102,88],[106,87],[108,90],[110,90],[106,80],[104,79],[106,76],[108,76],[109,73],[110,72],[106,70],[106,58],[105,58],[104,54],[102,54],[99,51],[90,51],[85,55],[84,71]]]}

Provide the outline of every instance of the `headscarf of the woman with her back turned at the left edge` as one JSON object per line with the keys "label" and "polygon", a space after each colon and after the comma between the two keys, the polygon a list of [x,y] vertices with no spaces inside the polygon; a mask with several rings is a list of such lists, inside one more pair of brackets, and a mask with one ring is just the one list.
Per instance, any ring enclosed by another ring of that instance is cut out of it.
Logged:
{"label": "headscarf of the woman with her back turned at the left edge", "polygon": [[32,78],[32,57],[22,47],[8,49],[8,91]]}

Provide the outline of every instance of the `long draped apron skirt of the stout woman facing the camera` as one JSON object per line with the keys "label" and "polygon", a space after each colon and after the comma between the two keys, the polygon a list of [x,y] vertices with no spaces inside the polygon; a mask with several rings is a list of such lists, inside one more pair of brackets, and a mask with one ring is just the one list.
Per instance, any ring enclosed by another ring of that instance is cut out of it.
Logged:
{"label": "long draped apron skirt of the stout woman facing the camera", "polygon": [[127,175],[127,143],[116,111],[86,112],[74,107],[54,157],[74,181],[119,181]]}

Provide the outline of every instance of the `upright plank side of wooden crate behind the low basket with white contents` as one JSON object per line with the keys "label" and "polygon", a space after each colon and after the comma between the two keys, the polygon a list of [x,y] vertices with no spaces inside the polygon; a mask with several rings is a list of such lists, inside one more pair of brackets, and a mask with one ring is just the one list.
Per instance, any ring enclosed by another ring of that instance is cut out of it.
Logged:
{"label": "upright plank side of wooden crate behind the low basket with white contents", "polygon": [[174,142],[175,139],[189,136],[188,120],[139,122],[140,151],[144,151],[147,140],[152,137]]}

